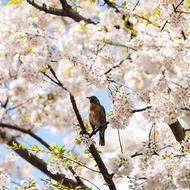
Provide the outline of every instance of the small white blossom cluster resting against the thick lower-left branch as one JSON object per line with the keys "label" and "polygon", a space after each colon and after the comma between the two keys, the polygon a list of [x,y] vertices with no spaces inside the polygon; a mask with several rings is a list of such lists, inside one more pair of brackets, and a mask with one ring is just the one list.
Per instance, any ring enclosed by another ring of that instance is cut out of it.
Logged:
{"label": "small white blossom cluster resting against the thick lower-left branch", "polygon": [[51,162],[48,163],[47,169],[52,174],[61,174],[63,172],[63,169],[68,170],[69,165],[62,161],[61,158],[53,157],[51,159]]}

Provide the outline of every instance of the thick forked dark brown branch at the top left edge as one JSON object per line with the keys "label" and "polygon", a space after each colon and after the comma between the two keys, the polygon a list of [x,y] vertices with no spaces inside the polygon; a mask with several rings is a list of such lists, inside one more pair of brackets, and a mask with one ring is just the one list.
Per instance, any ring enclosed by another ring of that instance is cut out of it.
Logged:
{"label": "thick forked dark brown branch at the top left edge", "polygon": [[[96,24],[91,19],[87,19],[80,15],[77,11],[73,10],[69,5],[67,5],[64,1],[62,1],[62,7],[63,9],[53,8],[53,7],[47,7],[46,4],[39,5],[34,0],[26,0],[30,5],[35,7],[36,9],[43,11],[48,14],[57,15],[57,16],[65,16],[72,18],[76,22],[80,22],[84,20],[87,23]],[[65,6],[67,5],[67,6]]]}

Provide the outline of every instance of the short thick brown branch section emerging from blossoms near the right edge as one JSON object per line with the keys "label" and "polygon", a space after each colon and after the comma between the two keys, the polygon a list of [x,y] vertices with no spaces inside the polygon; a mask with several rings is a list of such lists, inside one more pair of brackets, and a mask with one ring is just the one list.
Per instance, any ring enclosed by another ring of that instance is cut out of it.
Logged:
{"label": "short thick brown branch section emerging from blossoms near the right edge", "polygon": [[184,128],[181,126],[181,124],[179,123],[179,121],[177,120],[176,122],[169,124],[170,129],[172,130],[175,139],[178,142],[181,142],[182,140],[184,140],[185,138],[185,130]]}

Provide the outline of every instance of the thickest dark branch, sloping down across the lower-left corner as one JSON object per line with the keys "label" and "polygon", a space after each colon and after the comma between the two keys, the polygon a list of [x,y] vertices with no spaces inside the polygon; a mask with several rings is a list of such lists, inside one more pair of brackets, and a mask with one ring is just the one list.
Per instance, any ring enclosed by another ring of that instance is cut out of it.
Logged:
{"label": "thickest dark branch, sloping down across the lower-left corner", "polygon": [[[9,140],[9,142],[7,143],[9,146],[14,146],[13,142],[16,143],[19,147],[19,143],[16,141],[15,138],[11,138]],[[35,166],[36,168],[38,168],[40,171],[42,171],[43,173],[45,173],[46,175],[50,176],[52,179],[56,180],[56,181],[61,181],[63,180],[63,185],[67,186],[67,187],[77,187],[79,184],[77,182],[75,182],[74,180],[68,179],[65,177],[65,175],[63,174],[52,174],[51,172],[49,172],[47,170],[47,164],[40,158],[38,158],[37,156],[35,156],[34,154],[30,153],[28,150],[26,149],[13,149],[20,157],[22,157],[23,159],[25,159],[26,161],[28,161],[30,164],[32,164],[33,166]],[[85,186],[83,184],[82,188],[86,189],[87,186]]]}

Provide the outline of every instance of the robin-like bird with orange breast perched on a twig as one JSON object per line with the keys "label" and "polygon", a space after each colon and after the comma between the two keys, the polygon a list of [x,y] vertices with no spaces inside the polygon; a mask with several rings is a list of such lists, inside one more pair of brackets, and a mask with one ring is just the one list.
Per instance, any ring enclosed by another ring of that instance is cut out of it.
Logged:
{"label": "robin-like bird with orange breast perched on a twig", "polygon": [[93,131],[103,126],[99,131],[99,145],[105,146],[105,130],[107,128],[106,111],[96,96],[87,97],[90,100],[88,119]]}

